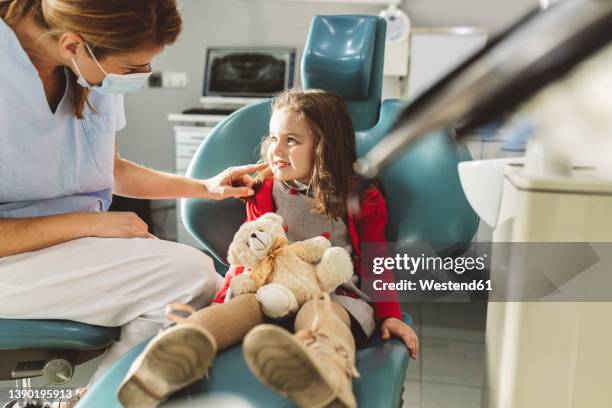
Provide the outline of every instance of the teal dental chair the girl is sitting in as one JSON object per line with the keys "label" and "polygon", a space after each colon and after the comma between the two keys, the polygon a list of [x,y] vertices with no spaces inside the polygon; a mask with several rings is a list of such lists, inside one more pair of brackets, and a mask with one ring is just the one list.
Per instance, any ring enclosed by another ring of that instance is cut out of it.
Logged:
{"label": "teal dental chair the girl is sitting in", "polygon": [[[381,104],[385,22],[372,16],[315,17],[302,62],[305,88],[322,88],[343,96],[357,131],[363,155],[392,127],[405,107],[399,101]],[[249,105],[221,122],[195,154],[188,174],[206,178],[228,166],[253,163],[257,147],[268,132],[271,101]],[[389,241],[430,240],[470,242],[478,218],[461,190],[457,164],[470,160],[464,146],[446,130],[426,137],[401,156],[382,176],[389,209]],[[183,200],[188,231],[217,261],[226,262],[234,233],[245,219],[239,200]],[[411,324],[410,316],[404,315]],[[82,399],[78,407],[119,406],[116,392],[130,364],[147,341],[132,349]],[[361,378],[354,381],[360,407],[401,406],[408,352],[396,339],[382,342],[378,335],[357,352]],[[290,407],[251,375],[240,345],[220,353],[210,377],[178,393],[193,401],[212,392],[244,397],[254,407]],[[178,402],[178,401],[176,401]],[[204,404],[204,402],[202,402]]]}

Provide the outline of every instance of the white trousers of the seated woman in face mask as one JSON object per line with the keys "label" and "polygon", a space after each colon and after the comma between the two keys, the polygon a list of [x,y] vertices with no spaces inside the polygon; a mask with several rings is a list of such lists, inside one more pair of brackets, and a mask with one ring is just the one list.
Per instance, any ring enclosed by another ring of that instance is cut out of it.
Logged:
{"label": "white trousers of the seated woman in face mask", "polygon": [[168,303],[210,304],[222,283],[212,259],[169,241],[81,238],[0,258],[0,318],[122,326],[94,374],[157,333]]}

